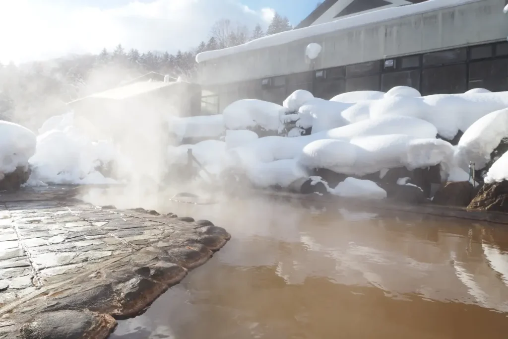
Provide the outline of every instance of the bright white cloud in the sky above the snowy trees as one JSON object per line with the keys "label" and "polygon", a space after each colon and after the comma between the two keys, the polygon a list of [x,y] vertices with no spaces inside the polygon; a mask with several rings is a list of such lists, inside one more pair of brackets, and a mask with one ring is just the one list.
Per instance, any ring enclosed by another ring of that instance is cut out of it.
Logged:
{"label": "bright white cloud in the sky above the snowy trees", "polygon": [[[132,2],[128,2],[132,1]],[[0,2],[0,62],[98,52],[121,43],[140,51],[195,47],[222,18],[267,25],[272,9],[253,11],[241,0],[125,0],[107,9],[57,0]]]}

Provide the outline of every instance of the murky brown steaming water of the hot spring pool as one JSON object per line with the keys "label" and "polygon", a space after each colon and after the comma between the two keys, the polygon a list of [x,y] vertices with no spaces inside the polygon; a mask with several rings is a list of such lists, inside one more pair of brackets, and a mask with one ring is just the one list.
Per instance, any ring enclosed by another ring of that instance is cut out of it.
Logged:
{"label": "murky brown steaming water of the hot spring pool", "polygon": [[266,198],[143,207],[233,238],[114,339],[508,336],[503,226]]}

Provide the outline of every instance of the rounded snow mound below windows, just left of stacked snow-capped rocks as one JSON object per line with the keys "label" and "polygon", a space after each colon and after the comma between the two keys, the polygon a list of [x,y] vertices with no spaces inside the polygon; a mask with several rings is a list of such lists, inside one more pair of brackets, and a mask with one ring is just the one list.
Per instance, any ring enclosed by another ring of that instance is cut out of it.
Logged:
{"label": "rounded snow mound below windows, just left of stacked snow-capped rocks", "polygon": [[238,100],[224,109],[224,122],[228,130],[246,130],[261,127],[269,131],[283,128],[282,116],[288,109],[257,99]]}

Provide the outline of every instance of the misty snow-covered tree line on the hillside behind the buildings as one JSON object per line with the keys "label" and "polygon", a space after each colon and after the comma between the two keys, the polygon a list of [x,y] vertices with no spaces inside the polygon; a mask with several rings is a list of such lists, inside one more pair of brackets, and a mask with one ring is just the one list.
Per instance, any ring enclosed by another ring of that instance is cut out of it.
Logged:
{"label": "misty snow-covered tree line on the hillside behind the buildings", "polygon": [[118,45],[112,51],[105,48],[98,55],[68,55],[19,66],[0,64],[0,119],[40,126],[47,116],[62,113],[66,102],[152,71],[192,81],[197,74],[198,53],[240,45],[292,28],[289,20],[277,13],[266,32],[259,24],[249,30],[245,25],[223,19],[212,26],[207,40],[174,54],[125,50]]}

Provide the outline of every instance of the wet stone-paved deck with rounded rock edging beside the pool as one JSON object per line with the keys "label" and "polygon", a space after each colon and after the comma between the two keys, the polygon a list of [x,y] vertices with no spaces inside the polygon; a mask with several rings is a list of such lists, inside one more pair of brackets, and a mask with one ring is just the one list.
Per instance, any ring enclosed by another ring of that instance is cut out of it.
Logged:
{"label": "wet stone-paved deck with rounded rock edging beside the pool", "polygon": [[1,339],[105,338],[230,238],[209,221],[74,196],[0,192]]}

